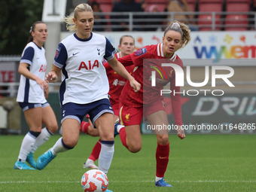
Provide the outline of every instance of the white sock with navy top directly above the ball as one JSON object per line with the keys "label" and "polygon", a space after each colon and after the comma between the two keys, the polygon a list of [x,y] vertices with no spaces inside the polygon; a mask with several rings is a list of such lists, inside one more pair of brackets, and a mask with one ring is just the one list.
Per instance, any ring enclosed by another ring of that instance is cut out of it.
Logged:
{"label": "white sock with navy top directly above the ball", "polygon": [[110,168],[112,159],[114,156],[114,141],[102,141],[102,150],[99,154],[99,170],[104,172],[106,175]]}

